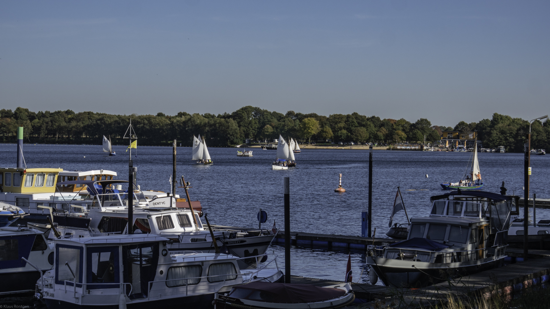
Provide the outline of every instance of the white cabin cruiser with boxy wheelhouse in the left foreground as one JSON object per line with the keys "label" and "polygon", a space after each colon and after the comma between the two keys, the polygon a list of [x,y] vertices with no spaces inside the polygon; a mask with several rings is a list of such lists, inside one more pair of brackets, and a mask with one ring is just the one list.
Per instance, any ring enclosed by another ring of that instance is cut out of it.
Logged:
{"label": "white cabin cruiser with boxy wheelhouse in the left foreground", "polygon": [[[277,282],[276,268],[241,271],[239,257],[169,252],[170,240],[151,234],[87,235],[54,240],[54,268],[35,280],[36,296],[53,308],[210,308],[221,289]],[[273,265],[274,264],[274,265]]]}

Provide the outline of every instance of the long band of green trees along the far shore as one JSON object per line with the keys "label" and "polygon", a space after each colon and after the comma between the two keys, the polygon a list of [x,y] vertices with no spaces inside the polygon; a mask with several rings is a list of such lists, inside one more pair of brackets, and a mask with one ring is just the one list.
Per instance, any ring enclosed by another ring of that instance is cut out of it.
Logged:
{"label": "long band of green trees along the far shore", "polygon": [[[432,125],[421,118],[411,123],[403,118],[380,119],[358,113],[332,114],[328,117],[315,113],[289,111],[286,114],[270,112],[258,107],[245,106],[233,113],[213,115],[113,115],[94,112],[67,111],[31,112],[18,107],[0,110],[0,141],[14,142],[17,127],[23,126],[27,142],[99,144],[101,137],[111,136],[113,144],[125,144],[122,139],[131,122],[140,145],[169,145],[178,140],[190,146],[193,135],[206,136],[212,146],[243,144],[245,139],[272,140],[279,134],[301,141],[343,142],[434,142],[441,139],[442,131],[461,133],[477,131],[483,146],[505,146],[507,151],[522,151],[529,123],[520,118],[493,114],[492,119],[477,123],[460,122],[456,126]],[[538,120],[532,124],[532,147],[550,149],[548,126]]]}

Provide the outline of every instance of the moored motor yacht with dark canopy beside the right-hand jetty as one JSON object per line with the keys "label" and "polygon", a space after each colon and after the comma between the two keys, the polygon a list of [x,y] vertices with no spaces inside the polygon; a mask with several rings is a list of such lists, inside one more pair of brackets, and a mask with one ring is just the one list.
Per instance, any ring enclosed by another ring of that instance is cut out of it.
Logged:
{"label": "moored motor yacht with dark canopy beside the right-hand jetty", "polygon": [[432,196],[430,216],[412,218],[406,240],[367,251],[370,282],[420,288],[502,266],[513,200],[483,191]]}

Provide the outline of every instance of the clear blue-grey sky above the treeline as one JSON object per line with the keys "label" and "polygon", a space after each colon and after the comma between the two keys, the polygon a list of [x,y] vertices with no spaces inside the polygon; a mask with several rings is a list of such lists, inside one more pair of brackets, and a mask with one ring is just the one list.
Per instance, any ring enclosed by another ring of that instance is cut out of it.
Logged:
{"label": "clear blue-grey sky above the treeline", "polygon": [[1,1],[0,108],[550,113],[548,1]]}

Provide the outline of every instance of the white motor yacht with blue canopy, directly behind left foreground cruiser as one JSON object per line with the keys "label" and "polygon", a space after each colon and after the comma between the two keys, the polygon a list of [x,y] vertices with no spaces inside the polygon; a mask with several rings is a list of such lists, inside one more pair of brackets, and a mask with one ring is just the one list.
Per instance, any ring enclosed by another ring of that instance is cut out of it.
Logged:
{"label": "white motor yacht with blue canopy, directly behind left foreground cruiser", "polygon": [[[127,184],[128,181],[78,180],[59,183],[59,185],[76,183],[86,185],[90,195],[94,196],[92,207],[89,211],[80,213],[54,213],[54,221],[58,223],[58,235],[53,237],[50,235],[50,238],[89,233],[128,234],[128,194],[126,191],[109,189],[116,187],[117,184]],[[170,239],[168,249],[171,251],[194,250],[212,253],[215,252],[216,245],[223,247],[226,253],[247,257],[239,260],[241,269],[254,267],[258,259],[251,256],[265,255],[276,235],[272,230],[267,229],[215,229],[212,231],[216,239],[215,245],[212,234],[209,230],[205,230],[200,220],[202,212],[194,209],[193,213],[189,208],[178,208],[177,198],[163,196],[148,200],[143,198],[138,190],[134,193],[133,230],[134,233],[155,234]],[[51,233],[55,231],[52,230]]]}

